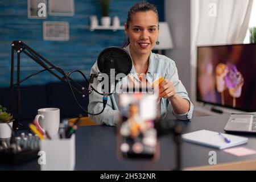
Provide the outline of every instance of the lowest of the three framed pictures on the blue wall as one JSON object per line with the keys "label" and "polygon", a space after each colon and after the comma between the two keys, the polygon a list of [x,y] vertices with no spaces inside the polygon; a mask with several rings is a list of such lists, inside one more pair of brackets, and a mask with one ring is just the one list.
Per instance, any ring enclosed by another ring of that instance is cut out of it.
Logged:
{"label": "lowest of the three framed pictures on the blue wall", "polygon": [[43,22],[43,39],[44,40],[69,40],[69,23],[68,22]]}

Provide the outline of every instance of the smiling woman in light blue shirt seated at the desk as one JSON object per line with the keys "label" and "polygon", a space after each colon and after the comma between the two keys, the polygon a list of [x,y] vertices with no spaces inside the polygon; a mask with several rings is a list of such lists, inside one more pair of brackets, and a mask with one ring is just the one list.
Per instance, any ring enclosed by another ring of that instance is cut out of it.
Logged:
{"label": "smiling woman in light blue shirt seated at the desk", "polygon": [[[164,77],[158,87],[159,114],[164,115],[170,112],[177,119],[191,119],[193,105],[189,100],[187,91],[179,80],[175,62],[164,55],[152,53],[152,49],[158,42],[159,31],[158,11],[155,5],[139,2],[131,7],[125,23],[125,34],[128,39],[124,49],[133,60],[133,68],[130,74],[123,78],[121,82],[133,82],[134,85],[151,84],[157,79],[155,74],[158,74],[158,78]],[[96,61],[91,73],[98,72],[100,71]],[[93,86],[98,88],[97,84]],[[117,124],[119,119],[117,95],[117,93],[114,93],[110,96],[110,100],[108,100],[108,104],[102,114],[89,115],[92,121],[112,126]],[[91,113],[101,111],[101,100],[101,96],[97,93],[90,94],[88,110]]]}

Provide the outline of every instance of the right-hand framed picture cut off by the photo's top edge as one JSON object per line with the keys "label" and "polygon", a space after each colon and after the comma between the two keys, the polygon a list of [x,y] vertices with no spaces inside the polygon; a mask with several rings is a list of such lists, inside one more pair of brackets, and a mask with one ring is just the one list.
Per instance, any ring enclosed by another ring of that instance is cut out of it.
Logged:
{"label": "right-hand framed picture cut off by the photo's top edge", "polygon": [[74,0],[48,0],[49,15],[73,16],[75,14]]}

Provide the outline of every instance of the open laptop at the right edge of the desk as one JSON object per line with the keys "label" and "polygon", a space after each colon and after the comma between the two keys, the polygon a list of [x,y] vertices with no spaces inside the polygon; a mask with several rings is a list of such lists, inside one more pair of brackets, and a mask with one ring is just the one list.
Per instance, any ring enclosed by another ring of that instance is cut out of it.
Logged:
{"label": "open laptop at the right edge of the desk", "polygon": [[255,114],[231,114],[226,126],[226,132],[256,133]]}

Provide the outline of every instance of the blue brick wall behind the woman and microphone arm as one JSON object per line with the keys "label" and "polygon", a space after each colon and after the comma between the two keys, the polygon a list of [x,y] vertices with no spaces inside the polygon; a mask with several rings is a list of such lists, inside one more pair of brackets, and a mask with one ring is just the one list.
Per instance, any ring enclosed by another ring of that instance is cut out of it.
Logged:
{"label": "blue brick wall behind the woman and microphone arm", "polygon": [[[122,46],[125,40],[123,30],[89,30],[89,16],[100,18],[100,7],[95,0],[74,0],[74,16],[47,16],[47,19],[28,19],[27,0],[0,1],[0,87],[10,84],[11,42],[22,40],[40,55],[51,61],[65,72],[79,69],[89,76],[90,68],[96,61],[98,54],[109,46]],[[136,0],[110,0],[110,16],[117,15],[121,24],[125,23],[129,8]],[[69,40],[44,41],[43,21],[68,21]],[[100,20],[100,19],[99,19]],[[24,53],[21,55],[21,78],[42,68],[29,59]],[[80,80],[78,75],[73,76]],[[22,85],[46,84],[57,81],[50,73],[41,73],[30,78]]]}

